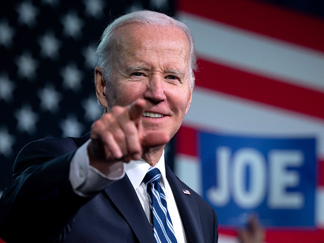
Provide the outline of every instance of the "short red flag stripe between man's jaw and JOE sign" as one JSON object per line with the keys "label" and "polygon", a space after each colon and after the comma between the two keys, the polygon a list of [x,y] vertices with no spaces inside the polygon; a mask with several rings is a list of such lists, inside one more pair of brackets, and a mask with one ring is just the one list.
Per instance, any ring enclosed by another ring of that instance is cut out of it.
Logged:
{"label": "short red flag stripe between man's jaw and JOE sign", "polygon": [[176,135],[176,153],[197,156],[197,131],[193,128],[181,126]]}

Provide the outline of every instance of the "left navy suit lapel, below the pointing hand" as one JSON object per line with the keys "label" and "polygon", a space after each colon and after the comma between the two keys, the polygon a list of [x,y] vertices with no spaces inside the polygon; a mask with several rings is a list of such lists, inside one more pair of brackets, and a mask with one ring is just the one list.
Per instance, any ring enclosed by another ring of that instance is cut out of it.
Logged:
{"label": "left navy suit lapel, below the pointing hand", "polygon": [[[125,217],[140,242],[155,243],[151,225],[127,175],[105,189],[116,208]],[[139,223],[140,222],[140,223]]]}

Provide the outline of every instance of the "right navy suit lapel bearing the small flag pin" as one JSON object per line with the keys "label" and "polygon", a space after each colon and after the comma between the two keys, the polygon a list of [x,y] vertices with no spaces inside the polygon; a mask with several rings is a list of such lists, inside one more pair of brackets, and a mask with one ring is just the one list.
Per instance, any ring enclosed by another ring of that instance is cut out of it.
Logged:
{"label": "right navy suit lapel bearing the small flag pin", "polygon": [[198,208],[193,195],[183,193],[181,189],[189,188],[183,188],[179,179],[168,166],[166,166],[166,174],[190,242],[204,242]]}

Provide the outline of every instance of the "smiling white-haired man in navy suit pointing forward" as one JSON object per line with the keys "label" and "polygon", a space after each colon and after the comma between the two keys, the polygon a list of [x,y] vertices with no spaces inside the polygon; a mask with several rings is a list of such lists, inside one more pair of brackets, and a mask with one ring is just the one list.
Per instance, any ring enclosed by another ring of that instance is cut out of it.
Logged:
{"label": "smiling white-haired man in navy suit pointing forward", "polygon": [[13,186],[1,199],[0,237],[156,242],[153,199],[143,182],[153,167],[161,173],[172,237],[217,242],[214,210],[164,161],[164,147],[192,98],[195,51],[189,30],[164,14],[125,15],[104,31],[97,58],[96,94],[104,115],[83,138],[39,140],[22,149]]}

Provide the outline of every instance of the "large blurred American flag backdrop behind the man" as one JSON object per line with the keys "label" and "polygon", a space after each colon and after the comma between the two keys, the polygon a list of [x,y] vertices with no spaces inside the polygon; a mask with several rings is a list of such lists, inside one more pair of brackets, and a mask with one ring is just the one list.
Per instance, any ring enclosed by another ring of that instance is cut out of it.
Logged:
{"label": "large blurred American flag backdrop behind the man", "polygon": [[[25,144],[90,130],[102,114],[93,84],[97,42],[112,19],[140,9],[186,23],[197,49],[199,71],[175,140],[175,173],[203,194],[201,131],[315,139],[314,226],[265,227],[266,242],[324,242],[322,1],[1,1],[0,191],[10,185]],[[219,241],[237,242],[236,228],[222,222]]]}

